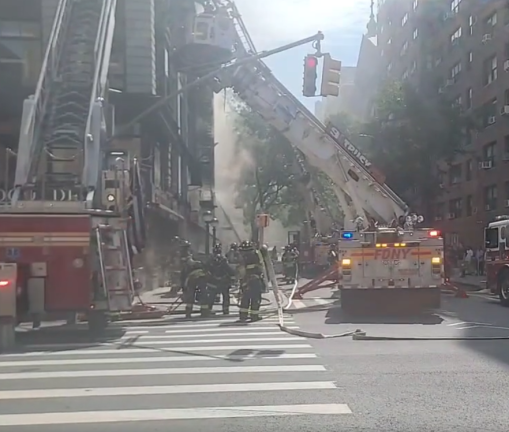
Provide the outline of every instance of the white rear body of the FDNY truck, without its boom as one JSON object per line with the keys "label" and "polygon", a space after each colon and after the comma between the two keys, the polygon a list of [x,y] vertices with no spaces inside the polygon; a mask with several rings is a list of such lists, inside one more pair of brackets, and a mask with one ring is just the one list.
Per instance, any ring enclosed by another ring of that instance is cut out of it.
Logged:
{"label": "white rear body of the FDNY truck, without its boom", "polygon": [[434,229],[345,231],[338,244],[341,305],[379,302],[437,308],[444,283],[444,247]]}

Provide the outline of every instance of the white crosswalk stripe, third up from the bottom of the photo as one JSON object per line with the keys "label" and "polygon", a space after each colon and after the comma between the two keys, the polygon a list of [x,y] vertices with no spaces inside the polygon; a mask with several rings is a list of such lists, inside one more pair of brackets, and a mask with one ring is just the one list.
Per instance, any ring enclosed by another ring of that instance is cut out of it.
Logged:
{"label": "white crosswalk stripe, third up from the bottom of the photo", "polygon": [[227,366],[200,368],[156,368],[156,369],[115,369],[87,370],[62,372],[19,372],[2,373],[0,381],[55,379],[55,378],[93,378],[118,376],[149,376],[149,375],[206,375],[235,373],[268,373],[268,372],[323,372],[322,365],[283,365],[283,366]]}

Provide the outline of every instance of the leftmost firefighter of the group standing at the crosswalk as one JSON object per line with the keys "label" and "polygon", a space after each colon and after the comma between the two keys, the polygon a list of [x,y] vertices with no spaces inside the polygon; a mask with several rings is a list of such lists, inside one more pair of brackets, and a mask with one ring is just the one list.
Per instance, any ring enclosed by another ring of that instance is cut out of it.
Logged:
{"label": "leftmost firefighter of the group standing at the crosswalk", "polygon": [[[184,249],[188,249],[189,247],[190,244],[186,244]],[[202,317],[209,316],[211,311],[209,290],[207,289],[207,269],[201,261],[193,259],[190,248],[189,252],[182,256],[182,260],[181,283],[184,289],[186,318],[191,317],[196,300],[200,303],[200,315]]]}

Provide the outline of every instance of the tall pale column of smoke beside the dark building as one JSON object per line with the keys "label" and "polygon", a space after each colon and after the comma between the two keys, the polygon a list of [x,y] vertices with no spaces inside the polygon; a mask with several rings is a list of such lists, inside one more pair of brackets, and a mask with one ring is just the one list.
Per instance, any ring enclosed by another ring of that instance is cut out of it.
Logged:
{"label": "tall pale column of smoke beside the dark building", "polygon": [[[225,103],[224,94],[214,97],[214,150],[215,190],[219,219],[218,236],[223,243],[246,239],[249,234],[244,226],[242,209],[235,208],[235,185],[242,168],[249,162],[247,155],[235,149],[234,116]],[[238,237],[237,237],[238,236]]]}

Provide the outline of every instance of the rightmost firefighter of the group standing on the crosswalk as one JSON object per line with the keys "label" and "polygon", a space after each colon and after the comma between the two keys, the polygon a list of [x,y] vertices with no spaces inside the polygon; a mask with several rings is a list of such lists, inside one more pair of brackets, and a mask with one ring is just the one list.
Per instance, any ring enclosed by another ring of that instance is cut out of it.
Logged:
{"label": "rightmost firefighter of the group standing on the crosswalk", "polygon": [[244,241],[239,248],[240,263],[240,321],[258,321],[263,291],[263,259],[261,252],[250,241]]}

